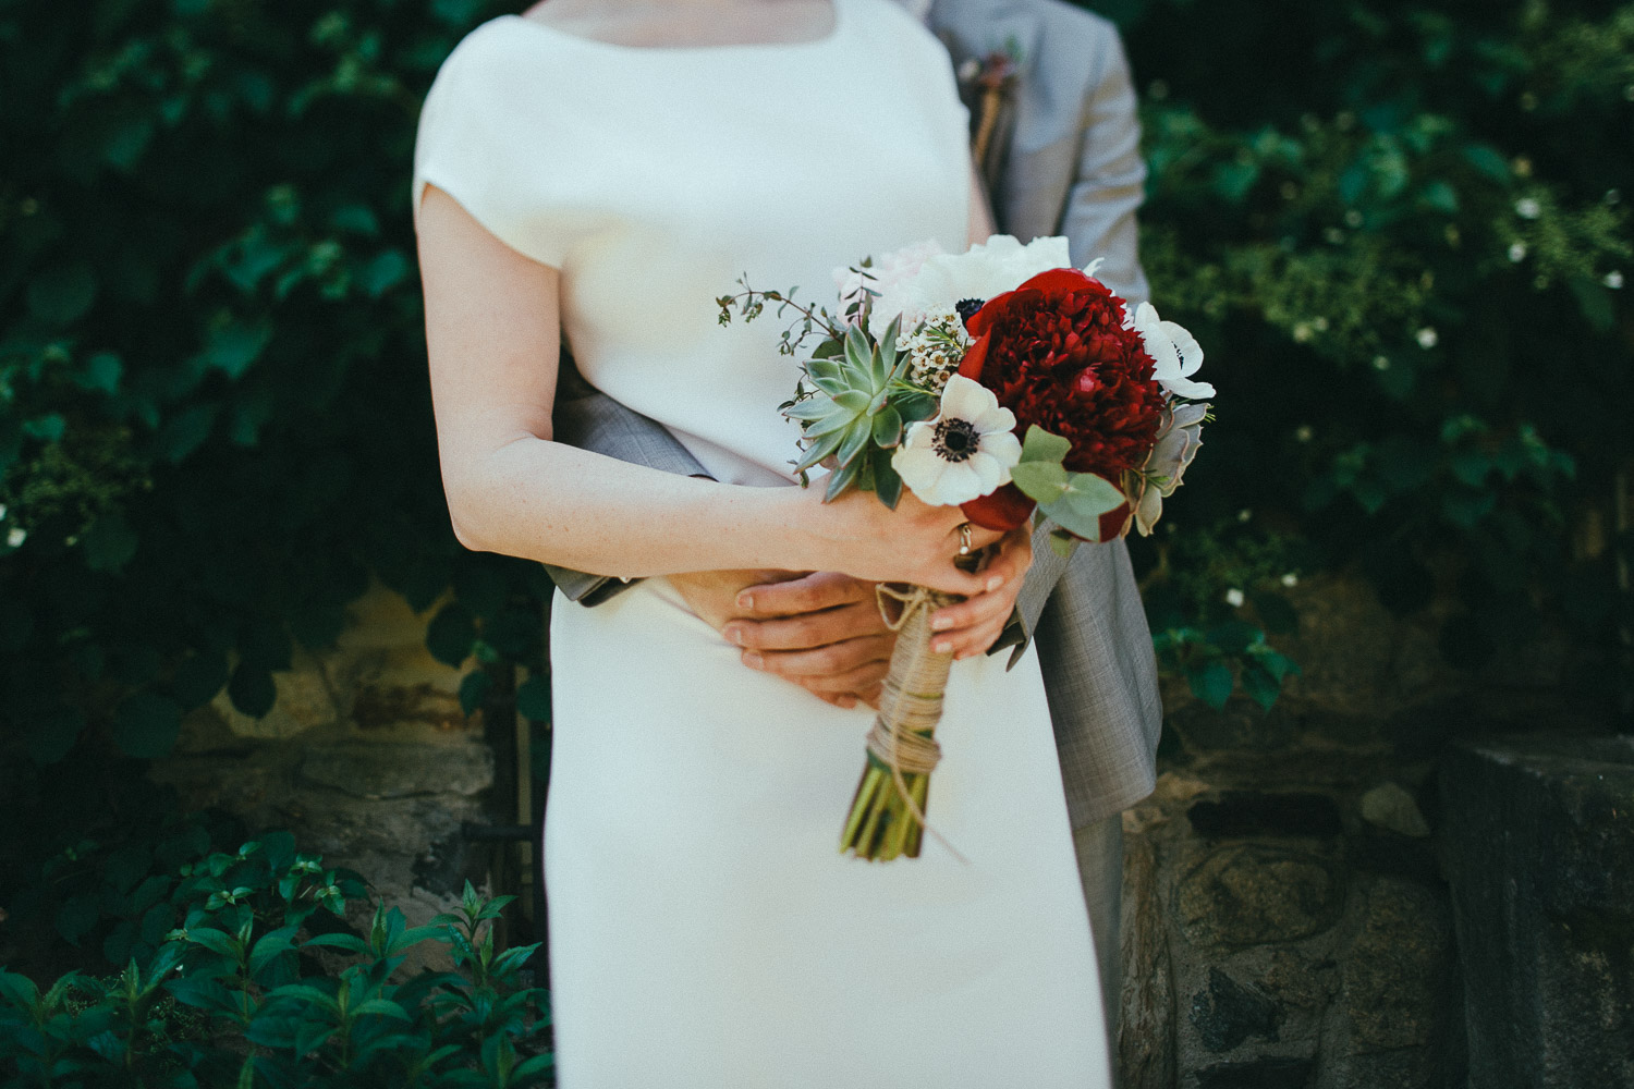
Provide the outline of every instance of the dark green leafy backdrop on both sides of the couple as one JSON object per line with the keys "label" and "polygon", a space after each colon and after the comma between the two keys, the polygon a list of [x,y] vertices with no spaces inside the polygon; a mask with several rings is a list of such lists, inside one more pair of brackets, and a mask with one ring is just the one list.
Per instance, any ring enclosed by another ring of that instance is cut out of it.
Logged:
{"label": "dark green leafy backdrop on both sides of the couple", "polygon": [[[1270,702],[1288,576],[1342,568],[1453,602],[1456,666],[1606,643],[1634,7],[1096,7],[1157,296],[1226,390],[1139,547],[1165,663]],[[263,713],[371,573],[453,589],[440,658],[539,665],[539,568],[448,527],[407,207],[418,100],[500,10],[0,3],[0,720],[39,764],[162,754],[222,684]]]}

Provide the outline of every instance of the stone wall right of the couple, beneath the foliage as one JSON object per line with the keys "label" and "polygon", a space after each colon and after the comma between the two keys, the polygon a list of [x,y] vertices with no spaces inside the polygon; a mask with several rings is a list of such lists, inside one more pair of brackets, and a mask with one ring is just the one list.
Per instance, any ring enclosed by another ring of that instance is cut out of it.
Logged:
{"label": "stone wall right of the couple, beneath the foliage", "polygon": [[1363,583],[1296,598],[1271,712],[1165,686],[1157,792],[1124,815],[1124,1089],[1464,1089],[1436,764],[1596,725],[1551,632],[1467,676]]}

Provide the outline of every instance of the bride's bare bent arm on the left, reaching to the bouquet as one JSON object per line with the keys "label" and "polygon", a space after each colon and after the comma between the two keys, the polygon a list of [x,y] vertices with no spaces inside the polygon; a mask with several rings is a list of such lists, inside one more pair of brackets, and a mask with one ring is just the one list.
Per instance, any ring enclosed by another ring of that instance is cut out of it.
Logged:
{"label": "bride's bare bent arm on the left, reaching to the bouquet", "polygon": [[[508,248],[426,186],[420,273],[438,456],[454,534],[474,550],[577,570],[838,570],[975,594],[953,565],[956,508],[904,496],[743,488],[675,477],[551,441],[557,273]],[[985,544],[997,534],[979,532]]]}

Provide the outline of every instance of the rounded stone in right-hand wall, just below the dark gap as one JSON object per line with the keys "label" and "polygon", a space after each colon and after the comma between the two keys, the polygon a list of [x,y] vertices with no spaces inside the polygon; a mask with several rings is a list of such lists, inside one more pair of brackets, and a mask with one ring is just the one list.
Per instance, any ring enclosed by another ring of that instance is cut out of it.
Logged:
{"label": "rounded stone in right-hand wall, just below the dark gap", "polygon": [[1248,842],[1206,854],[1180,878],[1176,901],[1193,944],[1242,947],[1327,931],[1345,908],[1345,888],[1322,856]]}

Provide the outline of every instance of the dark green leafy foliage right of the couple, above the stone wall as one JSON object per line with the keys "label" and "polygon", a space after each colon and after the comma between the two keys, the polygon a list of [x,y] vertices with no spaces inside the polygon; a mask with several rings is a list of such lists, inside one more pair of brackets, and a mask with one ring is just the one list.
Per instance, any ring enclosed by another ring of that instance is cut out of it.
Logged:
{"label": "dark green leafy foliage right of the couple, above the stone wall", "polygon": [[1092,7],[1145,98],[1154,296],[1222,390],[1137,555],[1172,665],[1214,704],[1227,663],[1275,696],[1243,622],[1289,627],[1284,576],[1353,568],[1436,602],[1456,666],[1564,624],[1605,692],[1631,620],[1634,7]]}

